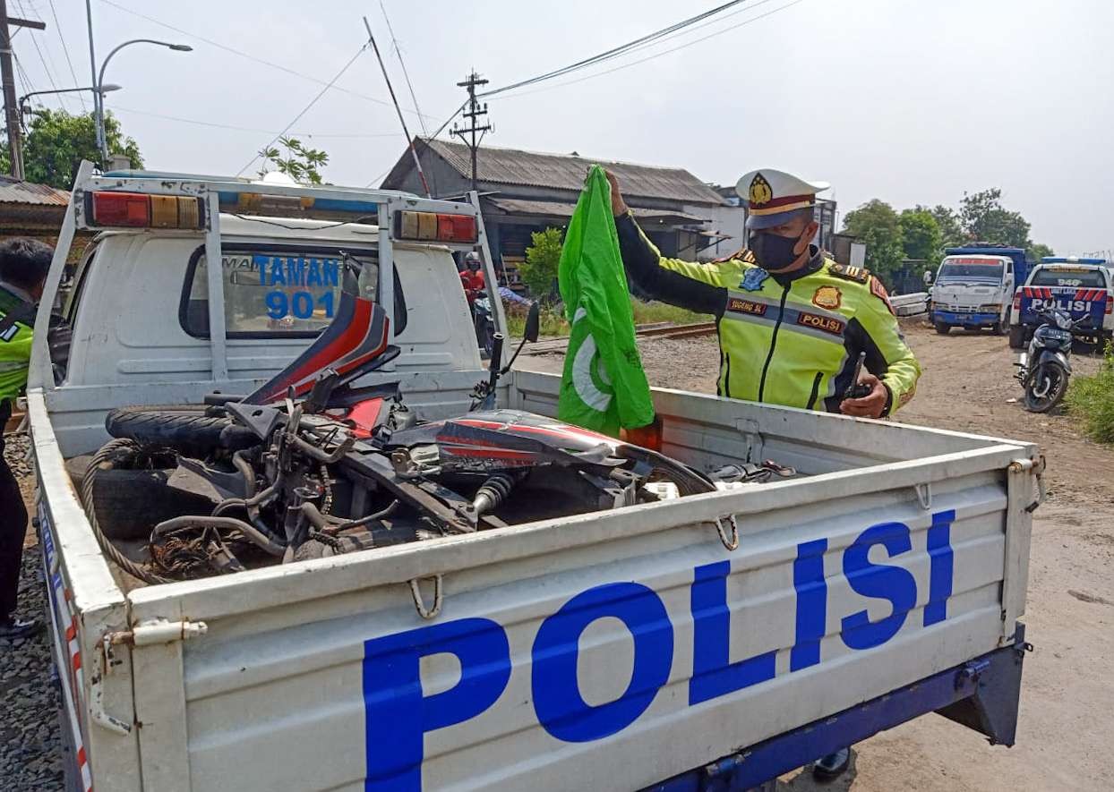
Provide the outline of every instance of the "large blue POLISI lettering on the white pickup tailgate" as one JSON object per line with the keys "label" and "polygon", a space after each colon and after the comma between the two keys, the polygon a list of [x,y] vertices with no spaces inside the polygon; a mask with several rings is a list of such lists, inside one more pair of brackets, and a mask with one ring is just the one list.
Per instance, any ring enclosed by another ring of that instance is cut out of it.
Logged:
{"label": "large blue POLISI lettering on the white pickup tailgate", "polygon": [[[955,556],[950,544],[954,510],[932,515],[926,534],[929,580],[922,627],[947,619],[952,594]],[[848,586],[866,600],[889,604],[889,615],[870,619],[866,608],[841,617],[842,643],[852,651],[881,646],[906,625],[917,596],[917,580],[900,566],[912,551],[912,536],[903,522],[880,522],[862,530],[837,558],[824,557],[828,539],[801,542],[792,565],[795,598],[790,674],[819,665],[827,635],[830,580],[842,571]],[[688,706],[730,695],[776,675],[776,648],[737,657],[747,637],[745,612],[739,618],[727,583],[731,561],[693,569],[688,613],[671,614],[662,597],[637,583],[594,586],[569,598],[543,619],[530,646],[530,693],[538,724],[553,737],[583,743],[622,732],[652,706],[673,669],[674,620],[693,622],[693,667],[688,676]],[[603,618],[618,619],[629,632],[634,653],[629,683],[603,704],[588,704],[577,679],[579,641],[585,629]],[[733,624],[734,622],[734,624]],[[734,637],[734,641],[732,639]],[[735,652],[732,651],[736,647]],[[525,647],[517,647],[521,657]],[[449,654],[460,664],[460,677],[448,690],[427,695],[421,679],[423,657]],[[681,669],[686,672],[688,669]],[[524,669],[525,673],[525,669]],[[363,703],[365,712],[368,792],[422,789],[421,765],[428,732],[465,723],[494,707],[511,678],[511,647],[507,633],[487,618],[462,618],[397,633],[364,643]]]}

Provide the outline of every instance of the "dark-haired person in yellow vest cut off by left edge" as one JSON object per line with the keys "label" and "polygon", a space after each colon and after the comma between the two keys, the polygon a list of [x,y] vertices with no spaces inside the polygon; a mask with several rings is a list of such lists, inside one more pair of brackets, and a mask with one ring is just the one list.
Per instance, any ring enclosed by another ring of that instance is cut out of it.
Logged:
{"label": "dark-haired person in yellow vest cut off by left edge", "polygon": [[[36,303],[50,271],[53,251],[25,237],[0,242],[0,427],[11,418],[16,397],[27,387]],[[0,436],[0,638],[23,638],[39,630],[36,619],[16,617],[19,570],[27,535],[27,507],[3,459]]]}

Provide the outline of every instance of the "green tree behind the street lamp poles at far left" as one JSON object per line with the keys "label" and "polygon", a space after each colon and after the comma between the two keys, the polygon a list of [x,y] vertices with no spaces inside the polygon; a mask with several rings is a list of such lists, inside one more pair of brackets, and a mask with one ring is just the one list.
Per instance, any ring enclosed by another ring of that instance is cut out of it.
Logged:
{"label": "green tree behind the street lamp poles at far left", "polygon": [[[23,139],[25,178],[60,189],[72,187],[82,159],[100,162],[96,128],[91,113],[71,116],[65,110],[37,110]],[[111,113],[105,114],[105,136],[109,154],[123,154],[131,160],[131,167],[143,167],[138,144],[124,136],[120,123]],[[0,151],[0,169],[11,172],[7,138]]]}

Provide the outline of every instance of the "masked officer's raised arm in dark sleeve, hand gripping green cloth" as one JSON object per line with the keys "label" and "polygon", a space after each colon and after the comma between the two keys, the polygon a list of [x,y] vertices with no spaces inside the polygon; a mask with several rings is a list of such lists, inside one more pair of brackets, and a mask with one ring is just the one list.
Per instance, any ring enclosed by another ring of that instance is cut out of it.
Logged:
{"label": "masked officer's raised arm in dark sleeve, hand gripping green cloth", "polygon": [[727,291],[712,282],[714,273],[703,264],[662,256],[635,222],[615,174],[609,170],[606,174],[612,185],[612,212],[619,237],[619,253],[631,280],[655,300],[698,313],[721,315],[727,302]]}

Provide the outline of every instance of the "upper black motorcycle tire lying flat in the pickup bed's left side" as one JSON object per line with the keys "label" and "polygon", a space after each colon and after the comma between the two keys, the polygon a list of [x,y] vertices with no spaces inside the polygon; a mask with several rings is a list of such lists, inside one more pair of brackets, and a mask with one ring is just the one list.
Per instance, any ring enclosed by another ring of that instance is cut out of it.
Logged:
{"label": "upper black motorcycle tire lying flat in the pickup bed's left side", "polygon": [[246,427],[227,418],[211,418],[204,408],[128,407],[113,410],[105,429],[114,438],[134,440],[140,446],[168,446],[194,451],[240,450],[260,442]]}

